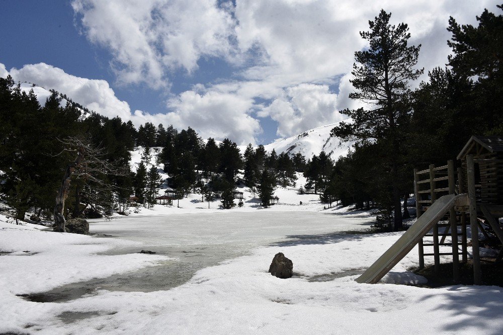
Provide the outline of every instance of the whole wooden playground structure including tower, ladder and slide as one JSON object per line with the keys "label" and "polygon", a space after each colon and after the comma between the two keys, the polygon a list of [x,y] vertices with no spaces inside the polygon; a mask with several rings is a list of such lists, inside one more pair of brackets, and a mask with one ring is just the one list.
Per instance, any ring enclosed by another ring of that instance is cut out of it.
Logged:
{"label": "whole wooden playground structure including tower, ladder and slide", "polygon": [[[420,268],[425,266],[425,257],[433,256],[434,270],[438,273],[440,256],[452,256],[453,281],[458,282],[459,254],[461,262],[468,261],[469,224],[473,282],[482,283],[479,231],[486,238],[494,234],[503,244],[503,230],[498,221],[503,217],[503,137],[472,136],[457,159],[460,165],[457,169],[453,160],[444,166],[430,165],[427,170],[414,169],[416,223],[357,282],[377,283],[416,244]],[[433,237],[433,243],[425,242],[424,237]],[[503,248],[496,261],[502,257]]]}

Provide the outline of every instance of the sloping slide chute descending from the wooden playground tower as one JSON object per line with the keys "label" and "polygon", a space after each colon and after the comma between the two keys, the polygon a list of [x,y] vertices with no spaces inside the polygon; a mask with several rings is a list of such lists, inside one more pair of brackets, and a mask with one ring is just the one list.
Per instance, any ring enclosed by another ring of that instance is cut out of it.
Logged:
{"label": "sloping slide chute descending from the wooden playground tower", "polygon": [[358,283],[375,284],[381,280],[410,250],[419,242],[430,229],[437,224],[453,207],[465,205],[468,202],[466,194],[450,194],[440,197],[433,203],[417,221],[398,238],[398,240],[382,254],[379,259],[358,277]]}

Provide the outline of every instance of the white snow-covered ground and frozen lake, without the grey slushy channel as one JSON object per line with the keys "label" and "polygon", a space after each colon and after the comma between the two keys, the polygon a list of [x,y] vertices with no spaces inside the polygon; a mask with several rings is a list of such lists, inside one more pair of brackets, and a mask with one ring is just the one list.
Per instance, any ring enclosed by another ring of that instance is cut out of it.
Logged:
{"label": "white snow-covered ground and frozen lake, without the grey slushy channel", "polygon": [[[120,239],[0,222],[0,333],[495,334],[503,329],[499,287],[357,284],[358,274],[400,236],[340,233],[368,224],[365,213],[258,213],[131,216],[91,224],[91,230]],[[203,267],[169,290],[97,289],[77,299],[45,303],[16,296],[159,267],[174,261],[170,245],[190,251],[201,243],[236,248],[242,256]],[[145,245],[165,255],[114,255]],[[267,273],[278,252],[293,261],[294,278]],[[421,280],[406,271],[416,264],[414,249],[385,282]]]}

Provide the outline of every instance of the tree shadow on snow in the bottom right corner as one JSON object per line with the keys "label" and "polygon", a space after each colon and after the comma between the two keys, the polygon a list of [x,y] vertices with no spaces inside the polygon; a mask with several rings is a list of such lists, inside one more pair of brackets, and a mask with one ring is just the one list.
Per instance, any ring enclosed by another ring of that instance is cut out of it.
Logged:
{"label": "tree shadow on snow in the bottom right corner", "polygon": [[[434,294],[422,297],[422,300],[432,299],[436,306],[432,312],[437,310],[450,311],[455,322],[444,324],[443,329],[449,332],[466,331],[467,327],[476,329],[486,329],[495,323],[501,325],[501,315],[503,310],[503,288],[496,286],[453,286],[448,288],[451,292],[440,293],[440,290],[433,289]],[[454,291],[454,292],[453,292]],[[439,298],[447,299],[447,303],[438,304],[435,302]],[[500,334],[501,328],[495,329],[491,334]]]}

